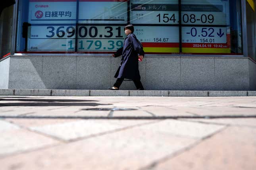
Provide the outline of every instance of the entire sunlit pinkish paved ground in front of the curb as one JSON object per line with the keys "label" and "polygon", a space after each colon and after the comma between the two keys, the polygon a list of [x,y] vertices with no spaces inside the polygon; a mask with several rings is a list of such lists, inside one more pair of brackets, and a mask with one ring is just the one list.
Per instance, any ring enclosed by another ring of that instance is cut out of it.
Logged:
{"label": "entire sunlit pinkish paved ground in front of the curb", "polygon": [[255,170],[256,97],[0,96],[0,134],[1,170]]}

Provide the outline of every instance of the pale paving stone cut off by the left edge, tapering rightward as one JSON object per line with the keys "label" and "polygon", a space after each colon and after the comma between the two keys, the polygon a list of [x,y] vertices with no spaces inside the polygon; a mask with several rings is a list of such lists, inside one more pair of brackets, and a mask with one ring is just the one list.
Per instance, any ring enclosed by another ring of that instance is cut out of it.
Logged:
{"label": "pale paving stone cut off by the left edge, tapering rightward", "polygon": [[[27,130],[1,132],[0,157],[57,144],[58,141]],[[4,168],[5,169],[5,168]]]}

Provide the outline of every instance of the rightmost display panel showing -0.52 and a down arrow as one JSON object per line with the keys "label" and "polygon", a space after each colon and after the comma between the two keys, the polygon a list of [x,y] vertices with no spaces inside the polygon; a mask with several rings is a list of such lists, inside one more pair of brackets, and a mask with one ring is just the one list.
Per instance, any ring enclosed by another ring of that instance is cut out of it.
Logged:
{"label": "rightmost display panel showing -0.52 and a down arrow", "polygon": [[181,4],[183,53],[231,53],[229,0],[182,0]]}

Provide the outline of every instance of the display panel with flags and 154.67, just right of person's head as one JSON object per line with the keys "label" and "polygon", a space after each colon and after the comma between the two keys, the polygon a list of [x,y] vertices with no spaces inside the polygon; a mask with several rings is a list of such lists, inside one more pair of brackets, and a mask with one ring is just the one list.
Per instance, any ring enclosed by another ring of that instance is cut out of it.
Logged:
{"label": "display panel with flags and 154.67, just right of person's head", "polygon": [[179,53],[178,0],[131,0],[130,23],[146,53]]}

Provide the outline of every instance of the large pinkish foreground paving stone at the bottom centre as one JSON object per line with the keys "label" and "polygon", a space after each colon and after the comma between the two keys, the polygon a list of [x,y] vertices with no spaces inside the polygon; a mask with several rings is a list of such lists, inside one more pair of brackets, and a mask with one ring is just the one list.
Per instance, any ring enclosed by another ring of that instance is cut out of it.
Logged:
{"label": "large pinkish foreground paving stone at the bottom centre", "polygon": [[20,170],[133,170],[189,147],[195,142],[195,139],[159,133],[159,130],[154,128],[145,130],[135,127],[0,159],[0,164],[4,169],[19,167]]}

